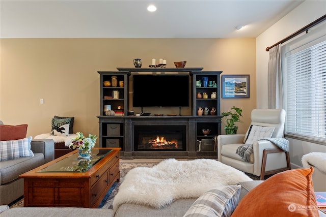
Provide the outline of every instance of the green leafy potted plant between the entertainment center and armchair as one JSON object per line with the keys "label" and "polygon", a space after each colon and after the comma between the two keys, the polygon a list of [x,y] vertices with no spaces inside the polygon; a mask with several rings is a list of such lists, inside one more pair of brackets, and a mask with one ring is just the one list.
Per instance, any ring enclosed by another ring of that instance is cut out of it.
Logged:
{"label": "green leafy potted plant between the entertainment center and armchair", "polygon": [[223,112],[221,114],[221,116],[223,116],[221,118],[221,121],[225,124],[224,127],[225,134],[236,134],[238,127],[235,126],[235,123],[242,122],[240,121],[240,116],[242,117],[241,113],[242,113],[242,109],[233,106],[231,108],[231,111]]}

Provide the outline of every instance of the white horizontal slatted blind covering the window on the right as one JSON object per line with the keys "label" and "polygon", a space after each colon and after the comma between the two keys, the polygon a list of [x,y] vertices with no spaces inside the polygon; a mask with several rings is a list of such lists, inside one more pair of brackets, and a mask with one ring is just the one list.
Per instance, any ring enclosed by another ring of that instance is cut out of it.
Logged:
{"label": "white horizontal slatted blind covering the window on the right", "polygon": [[326,141],[326,41],[285,61],[285,133]]}

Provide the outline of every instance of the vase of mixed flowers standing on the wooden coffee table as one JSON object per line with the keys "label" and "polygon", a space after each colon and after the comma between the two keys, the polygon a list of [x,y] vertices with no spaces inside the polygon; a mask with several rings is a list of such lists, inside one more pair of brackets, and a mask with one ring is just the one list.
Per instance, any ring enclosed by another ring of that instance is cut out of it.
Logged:
{"label": "vase of mixed flowers standing on the wooden coffee table", "polygon": [[69,144],[69,148],[78,149],[79,158],[89,159],[96,139],[96,135],[89,134],[88,137],[85,137],[83,133],[78,132],[77,137]]}

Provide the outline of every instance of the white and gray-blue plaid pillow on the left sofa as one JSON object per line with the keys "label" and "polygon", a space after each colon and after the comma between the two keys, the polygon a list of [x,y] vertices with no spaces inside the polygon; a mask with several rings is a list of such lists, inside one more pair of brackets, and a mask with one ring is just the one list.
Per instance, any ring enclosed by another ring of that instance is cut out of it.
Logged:
{"label": "white and gray-blue plaid pillow on the left sofa", "polygon": [[0,161],[8,161],[17,158],[33,157],[31,150],[32,137],[1,141],[0,144]]}

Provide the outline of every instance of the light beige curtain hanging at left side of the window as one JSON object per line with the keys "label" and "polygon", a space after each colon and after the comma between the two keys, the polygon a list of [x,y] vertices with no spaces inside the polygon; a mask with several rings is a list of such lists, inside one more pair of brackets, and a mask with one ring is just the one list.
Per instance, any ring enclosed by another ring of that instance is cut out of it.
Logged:
{"label": "light beige curtain hanging at left side of the window", "polygon": [[283,85],[281,72],[281,45],[269,49],[268,61],[268,108],[283,109]]}

